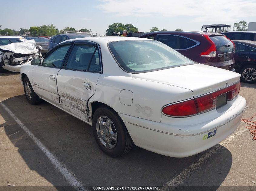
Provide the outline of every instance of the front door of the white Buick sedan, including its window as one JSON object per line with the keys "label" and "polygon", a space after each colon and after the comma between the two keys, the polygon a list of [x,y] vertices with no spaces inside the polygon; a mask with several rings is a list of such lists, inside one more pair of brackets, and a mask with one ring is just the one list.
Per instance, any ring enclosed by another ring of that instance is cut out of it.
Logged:
{"label": "front door of the white Buick sedan, including its window", "polygon": [[49,52],[41,65],[33,68],[33,89],[38,96],[56,105],[59,104],[57,74],[62,67],[65,55],[71,44],[58,46]]}

